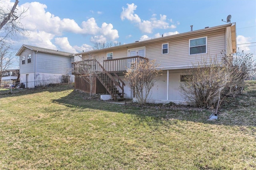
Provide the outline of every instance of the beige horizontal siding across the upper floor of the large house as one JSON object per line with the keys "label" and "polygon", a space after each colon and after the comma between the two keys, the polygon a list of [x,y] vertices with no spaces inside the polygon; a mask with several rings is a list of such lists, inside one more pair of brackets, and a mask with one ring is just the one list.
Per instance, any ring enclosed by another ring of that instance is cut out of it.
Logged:
{"label": "beige horizontal siding across the upper floor of the large house", "polygon": [[[200,33],[191,36],[184,36],[178,38],[170,38],[165,40],[164,42],[168,42],[169,49],[168,54],[162,55],[162,43],[159,42],[149,42],[143,44],[142,46],[145,48],[144,57],[149,60],[156,60],[156,64],[160,64],[158,68],[160,69],[185,69],[192,66],[192,63],[200,61],[204,57],[212,56],[217,57],[220,61],[222,59],[221,51],[226,51],[226,29],[214,30],[210,33]],[[207,37],[207,54],[194,54],[189,55],[189,40]],[[103,62],[103,59],[106,59],[106,53],[113,52],[115,54],[114,58],[125,58],[129,57],[128,51],[130,49],[140,49],[137,44],[132,47],[127,48],[126,46],[122,46],[118,49],[111,49],[111,51],[100,51],[99,53],[95,53],[100,55],[100,59]],[[139,54],[139,51],[138,51]],[[84,59],[87,59],[88,55],[83,55]],[[179,77],[180,79],[180,77]]]}

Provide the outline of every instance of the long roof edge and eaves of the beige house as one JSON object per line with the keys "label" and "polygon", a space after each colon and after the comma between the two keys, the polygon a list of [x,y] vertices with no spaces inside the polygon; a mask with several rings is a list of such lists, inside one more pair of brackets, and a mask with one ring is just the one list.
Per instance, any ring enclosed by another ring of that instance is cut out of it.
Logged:
{"label": "long roof edge and eaves of the beige house", "polygon": [[[180,33],[180,34],[175,34],[175,35],[171,35],[171,36],[165,36],[165,37],[160,37],[160,38],[154,38],[151,40],[145,40],[145,41],[141,41],[141,42],[134,42],[134,43],[128,43],[128,44],[124,44],[124,45],[117,45],[114,47],[109,47],[109,48],[104,48],[104,49],[94,49],[91,51],[85,51],[85,52],[81,52],[81,53],[75,53],[74,55],[80,55],[80,54],[88,54],[88,53],[93,53],[93,52],[100,52],[100,51],[106,51],[106,50],[112,50],[112,49],[118,49],[121,47],[131,47],[134,45],[145,45],[147,43],[150,42],[161,42],[161,41],[166,41],[170,38],[182,38],[182,37],[186,37],[186,36],[190,36],[190,35],[196,35],[198,33],[204,33],[204,32],[211,32],[214,30],[220,30],[223,28],[227,28],[227,27],[231,27],[234,24],[234,28],[235,28],[235,23],[231,23],[231,24],[225,24],[225,25],[221,25],[221,26],[215,26],[215,27],[206,27],[204,29],[201,30],[195,30],[195,31],[190,31],[190,32],[185,32],[185,33]],[[234,28],[232,28],[232,45],[233,45],[233,50],[236,50],[236,35],[235,32],[236,30],[234,30]]]}

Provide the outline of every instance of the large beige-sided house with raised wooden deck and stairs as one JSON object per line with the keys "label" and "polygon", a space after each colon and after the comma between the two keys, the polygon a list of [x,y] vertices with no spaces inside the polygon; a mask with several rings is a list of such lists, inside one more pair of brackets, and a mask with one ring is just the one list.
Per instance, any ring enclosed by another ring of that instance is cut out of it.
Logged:
{"label": "large beige-sided house with raised wooden deck and stairs", "polygon": [[202,30],[77,53],[75,55],[82,57],[84,61],[72,63],[72,74],[75,75],[75,88],[88,92],[88,85],[81,78],[80,72],[82,68],[90,65],[90,68],[99,71],[93,87],[94,93],[108,91],[115,100],[132,99],[133,91],[124,81],[124,73],[135,60],[155,60],[160,64],[158,69],[162,70],[163,75],[152,88],[148,102],[183,103],[185,100],[180,94],[179,85],[184,81],[187,69],[192,63],[209,56],[217,57],[220,61],[224,56],[221,52],[226,55],[236,52],[235,24],[206,27]]}

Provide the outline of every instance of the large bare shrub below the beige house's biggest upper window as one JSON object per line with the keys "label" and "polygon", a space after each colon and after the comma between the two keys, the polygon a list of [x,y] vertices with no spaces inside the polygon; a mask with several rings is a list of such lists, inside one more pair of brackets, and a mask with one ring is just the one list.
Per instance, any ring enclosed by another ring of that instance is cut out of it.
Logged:
{"label": "large bare shrub below the beige house's biggest upper window", "polygon": [[206,57],[192,64],[187,79],[180,82],[180,93],[196,107],[214,107],[220,99],[220,91],[226,84],[226,68],[217,57]]}

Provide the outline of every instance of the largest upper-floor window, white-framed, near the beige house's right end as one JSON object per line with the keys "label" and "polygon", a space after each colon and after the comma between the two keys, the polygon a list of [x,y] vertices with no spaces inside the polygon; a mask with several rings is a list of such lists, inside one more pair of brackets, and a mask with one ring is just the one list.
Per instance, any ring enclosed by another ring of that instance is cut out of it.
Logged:
{"label": "largest upper-floor window, white-framed, near the beige house's right end", "polygon": [[207,53],[207,37],[189,40],[189,55]]}

